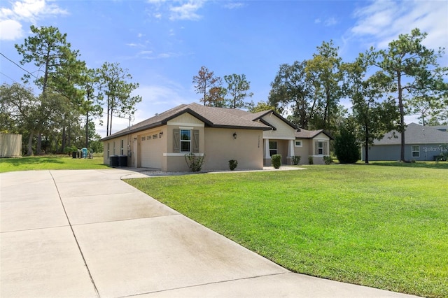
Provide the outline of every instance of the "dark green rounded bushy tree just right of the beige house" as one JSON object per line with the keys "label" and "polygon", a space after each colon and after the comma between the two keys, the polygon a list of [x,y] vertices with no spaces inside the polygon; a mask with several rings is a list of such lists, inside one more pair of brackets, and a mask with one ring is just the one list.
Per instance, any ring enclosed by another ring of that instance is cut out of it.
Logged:
{"label": "dark green rounded bushy tree just right of the beige house", "polygon": [[354,164],[360,159],[359,143],[351,120],[339,127],[335,136],[335,155],[341,164]]}

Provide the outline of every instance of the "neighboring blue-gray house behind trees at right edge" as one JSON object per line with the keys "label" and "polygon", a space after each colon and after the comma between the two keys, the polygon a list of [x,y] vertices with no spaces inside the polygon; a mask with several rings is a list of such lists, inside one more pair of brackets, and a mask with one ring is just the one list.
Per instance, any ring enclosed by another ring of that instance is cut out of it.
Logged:
{"label": "neighboring blue-gray house behind trees at right edge", "polygon": [[[448,153],[448,132],[446,126],[430,127],[411,123],[405,131],[405,160],[435,160],[442,153]],[[401,135],[388,132],[383,139],[375,140],[369,148],[369,160],[400,160]],[[364,152],[364,148],[361,151]],[[362,157],[364,159],[364,156]]]}

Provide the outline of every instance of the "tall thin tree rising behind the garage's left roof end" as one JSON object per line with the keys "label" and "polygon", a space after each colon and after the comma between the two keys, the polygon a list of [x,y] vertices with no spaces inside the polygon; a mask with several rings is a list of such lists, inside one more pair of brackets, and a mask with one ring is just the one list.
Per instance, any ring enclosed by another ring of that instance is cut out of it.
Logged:
{"label": "tall thin tree rising behind the garage's left roof end", "polygon": [[113,115],[121,118],[134,115],[135,106],[141,101],[141,97],[131,96],[131,93],[139,87],[139,83],[128,83],[127,80],[132,80],[132,76],[118,63],[105,62],[98,71],[99,87],[106,101],[106,136],[109,136],[112,133]]}

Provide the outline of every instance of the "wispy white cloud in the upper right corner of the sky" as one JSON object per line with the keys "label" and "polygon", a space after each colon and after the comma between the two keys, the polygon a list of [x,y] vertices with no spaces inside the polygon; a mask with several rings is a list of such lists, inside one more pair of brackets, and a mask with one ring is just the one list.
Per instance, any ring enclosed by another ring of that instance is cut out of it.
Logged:
{"label": "wispy white cloud in the upper right corner of the sky", "polygon": [[373,1],[358,8],[353,17],[353,36],[364,38],[377,48],[386,48],[399,34],[419,28],[428,33],[423,44],[428,48],[448,47],[447,1]]}

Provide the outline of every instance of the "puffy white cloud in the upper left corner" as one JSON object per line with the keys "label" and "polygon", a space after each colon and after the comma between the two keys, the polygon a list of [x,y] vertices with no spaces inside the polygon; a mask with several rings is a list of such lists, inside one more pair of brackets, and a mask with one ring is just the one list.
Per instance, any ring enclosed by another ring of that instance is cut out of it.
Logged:
{"label": "puffy white cloud in the upper left corner", "polygon": [[67,14],[66,10],[45,0],[19,0],[10,2],[10,8],[0,8],[0,40],[21,38],[23,35],[22,22],[36,23],[44,17],[65,14]]}

